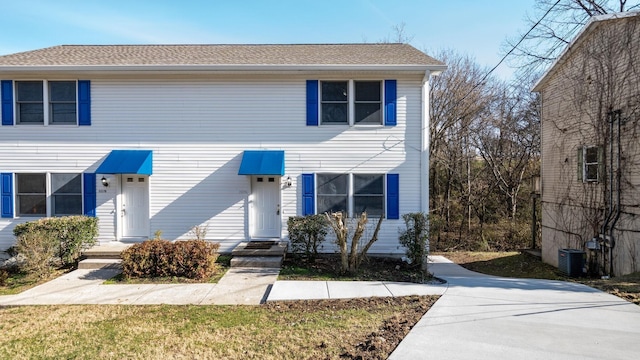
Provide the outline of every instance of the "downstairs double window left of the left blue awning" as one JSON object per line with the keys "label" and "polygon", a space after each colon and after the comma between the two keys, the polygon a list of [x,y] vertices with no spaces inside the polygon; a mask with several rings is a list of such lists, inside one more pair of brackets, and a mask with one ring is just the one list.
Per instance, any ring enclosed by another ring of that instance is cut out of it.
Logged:
{"label": "downstairs double window left of the left blue awning", "polygon": [[16,174],[16,203],[18,216],[80,215],[81,174]]}

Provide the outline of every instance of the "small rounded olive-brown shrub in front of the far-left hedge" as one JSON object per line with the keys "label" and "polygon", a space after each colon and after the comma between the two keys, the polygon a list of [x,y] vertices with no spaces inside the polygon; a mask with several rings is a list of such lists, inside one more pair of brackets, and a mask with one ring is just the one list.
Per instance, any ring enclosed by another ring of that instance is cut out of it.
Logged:
{"label": "small rounded olive-brown shrub in front of the far-left hedge", "polygon": [[32,276],[47,277],[53,270],[58,246],[51,231],[35,229],[21,233],[16,242],[20,268]]}

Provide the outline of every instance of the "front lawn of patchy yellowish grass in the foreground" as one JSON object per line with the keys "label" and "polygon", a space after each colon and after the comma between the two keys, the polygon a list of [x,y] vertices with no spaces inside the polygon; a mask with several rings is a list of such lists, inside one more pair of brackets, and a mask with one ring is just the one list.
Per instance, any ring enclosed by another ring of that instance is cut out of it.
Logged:
{"label": "front lawn of patchy yellowish grass in the foreground", "polygon": [[0,307],[0,358],[387,358],[436,299]]}

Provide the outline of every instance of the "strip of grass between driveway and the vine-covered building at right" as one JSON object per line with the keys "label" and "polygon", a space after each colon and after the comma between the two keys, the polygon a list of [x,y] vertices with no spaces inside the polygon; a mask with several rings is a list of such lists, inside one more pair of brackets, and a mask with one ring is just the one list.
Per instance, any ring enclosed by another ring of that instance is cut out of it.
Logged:
{"label": "strip of grass between driveway and the vine-covered building at right", "polygon": [[640,305],[640,272],[608,280],[570,278],[540,258],[519,252],[445,252],[442,255],[456,264],[479,273],[503,277],[574,281],[616,295]]}

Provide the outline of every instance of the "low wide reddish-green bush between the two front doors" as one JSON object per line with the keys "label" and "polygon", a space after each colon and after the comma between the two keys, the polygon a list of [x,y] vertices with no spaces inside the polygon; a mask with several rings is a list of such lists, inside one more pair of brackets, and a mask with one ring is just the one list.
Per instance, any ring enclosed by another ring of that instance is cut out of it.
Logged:
{"label": "low wide reddish-green bush between the two front doors", "polygon": [[217,270],[219,247],[204,240],[147,240],[122,253],[122,273],[125,277],[208,278]]}

